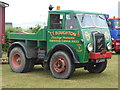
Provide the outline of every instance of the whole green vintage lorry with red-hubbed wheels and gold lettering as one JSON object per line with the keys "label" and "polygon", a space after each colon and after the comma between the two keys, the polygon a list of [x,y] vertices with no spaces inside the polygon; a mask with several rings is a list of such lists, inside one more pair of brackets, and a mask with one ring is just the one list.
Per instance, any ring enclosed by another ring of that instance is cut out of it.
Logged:
{"label": "whole green vintage lorry with red-hubbed wheels and gold lettering", "polygon": [[35,34],[10,33],[9,64],[22,73],[41,64],[55,78],[69,78],[75,68],[101,73],[112,56],[104,15],[75,10],[51,10],[44,29]]}

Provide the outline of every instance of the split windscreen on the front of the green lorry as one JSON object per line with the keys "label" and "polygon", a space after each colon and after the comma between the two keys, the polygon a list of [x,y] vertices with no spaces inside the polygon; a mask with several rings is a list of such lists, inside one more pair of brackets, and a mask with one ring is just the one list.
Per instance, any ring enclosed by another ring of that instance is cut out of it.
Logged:
{"label": "split windscreen on the front of the green lorry", "polygon": [[91,15],[91,14],[77,14],[77,18],[81,27],[98,27],[108,28],[106,20],[103,15]]}

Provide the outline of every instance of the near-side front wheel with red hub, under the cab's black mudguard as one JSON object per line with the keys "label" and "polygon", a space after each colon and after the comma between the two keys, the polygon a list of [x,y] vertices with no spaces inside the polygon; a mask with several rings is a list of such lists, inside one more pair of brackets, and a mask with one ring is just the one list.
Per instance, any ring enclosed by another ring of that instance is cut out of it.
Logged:
{"label": "near-side front wheel with red hub, under the cab's black mudguard", "polygon": [[75,65],[67,52],[57,51],[50,59],[50,70],[55,78],[67,79],[73,74]]}

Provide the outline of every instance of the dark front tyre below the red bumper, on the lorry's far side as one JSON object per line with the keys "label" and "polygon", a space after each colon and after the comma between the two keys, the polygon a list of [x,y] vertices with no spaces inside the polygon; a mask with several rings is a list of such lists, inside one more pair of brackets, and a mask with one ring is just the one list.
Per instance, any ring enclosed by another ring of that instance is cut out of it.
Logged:
{"label": "dark front tyre below the red bumper, on the lorry's far side", "polygon": [[106,69],[107,66],[107,60],[105,60],[105,62],[101,62],[101,63],[90,63],[87,66],[87,70],[90,73],[101,73]]}

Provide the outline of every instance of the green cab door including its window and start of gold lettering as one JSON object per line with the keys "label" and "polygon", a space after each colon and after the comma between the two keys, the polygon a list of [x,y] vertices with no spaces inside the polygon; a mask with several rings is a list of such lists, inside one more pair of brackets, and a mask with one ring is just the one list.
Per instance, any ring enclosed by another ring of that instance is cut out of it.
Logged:
{"label": "green cab door including its window and start of gold lettering", "polygon": [[49,14],[48,16],[48,30],[47,30],[47,52],[57,43],[60,43],[62,36],[58,32],[64,30],[65,14]]}

